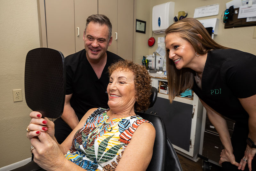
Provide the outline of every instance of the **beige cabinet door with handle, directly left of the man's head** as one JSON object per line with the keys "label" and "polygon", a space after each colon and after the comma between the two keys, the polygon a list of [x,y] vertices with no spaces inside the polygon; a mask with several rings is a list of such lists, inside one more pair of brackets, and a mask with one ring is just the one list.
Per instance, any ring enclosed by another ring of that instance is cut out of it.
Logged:
{"label": "beige cabinet door with handle, directly left of the man's head", "polygon": [[[83,36],[84,36],[86,19],[92,14],[97,14],[98,3],[95,0],[74,0],[74,7],[75,7],[76,52],[78,52],[84,49]],[[79,33],[78,33],[78,30],[79,30]]]}

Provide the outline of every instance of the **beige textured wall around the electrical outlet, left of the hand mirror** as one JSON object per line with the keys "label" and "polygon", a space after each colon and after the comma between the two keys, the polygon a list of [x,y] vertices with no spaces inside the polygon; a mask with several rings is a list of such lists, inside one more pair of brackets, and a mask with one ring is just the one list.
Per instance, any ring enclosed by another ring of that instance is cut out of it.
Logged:
{"label": "beige textured wall around the electrical outlet, left of the hand mirror", "polygon": [[[0,0],[0,167],[31,157],[26,128],[30,109],[24,96],[25,59],[40,47],[35,0]],[[23,101],[13,102],[12,89]]]}

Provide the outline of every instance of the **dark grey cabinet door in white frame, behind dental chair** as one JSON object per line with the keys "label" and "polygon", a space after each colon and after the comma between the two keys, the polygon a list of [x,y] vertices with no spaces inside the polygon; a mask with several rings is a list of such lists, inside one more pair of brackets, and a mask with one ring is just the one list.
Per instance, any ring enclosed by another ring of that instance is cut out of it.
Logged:
{"label": "dark grey cabinet door in white frame, behind dental chair", "polygon": [[164,120],[166,134],[172,144],[189,152],[193,105],[157,97],[156,103],[146,113],[154,113]]}

